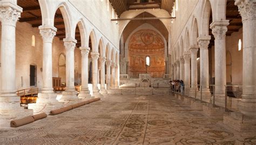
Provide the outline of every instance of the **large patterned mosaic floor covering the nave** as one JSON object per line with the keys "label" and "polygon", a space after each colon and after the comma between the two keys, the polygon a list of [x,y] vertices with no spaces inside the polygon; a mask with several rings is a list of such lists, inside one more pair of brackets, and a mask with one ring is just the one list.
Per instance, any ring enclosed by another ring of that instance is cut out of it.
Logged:
{"label": "large patterned mosaic floor covering the nave", "polygon": [[11,130],[0,144],[256,144],[173,96],[107,96]]}

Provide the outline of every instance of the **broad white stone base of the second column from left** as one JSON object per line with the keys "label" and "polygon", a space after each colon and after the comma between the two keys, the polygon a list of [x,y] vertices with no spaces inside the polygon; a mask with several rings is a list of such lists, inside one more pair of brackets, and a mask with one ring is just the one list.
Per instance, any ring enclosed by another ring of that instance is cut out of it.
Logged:
{"label": "broad white stone base of the second column from left", "polygon": [[56,100],[56,93],[38,93],[36,104],[29,104],[29,109],[33,110],[34,114],[43,113],[49,114],[51,110],[63,107],[63,103]]}

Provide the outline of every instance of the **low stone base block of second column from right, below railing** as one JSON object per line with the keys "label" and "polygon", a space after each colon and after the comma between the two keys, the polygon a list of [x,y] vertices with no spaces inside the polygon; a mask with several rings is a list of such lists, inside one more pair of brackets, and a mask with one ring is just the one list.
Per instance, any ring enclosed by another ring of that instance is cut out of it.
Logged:
{"label": "low stone base block of second column from right, below railing", "polygon": [[203,105],[203,113],[208,117],[223,117],[225,109],[223,107],[215,107],[212,104]]}

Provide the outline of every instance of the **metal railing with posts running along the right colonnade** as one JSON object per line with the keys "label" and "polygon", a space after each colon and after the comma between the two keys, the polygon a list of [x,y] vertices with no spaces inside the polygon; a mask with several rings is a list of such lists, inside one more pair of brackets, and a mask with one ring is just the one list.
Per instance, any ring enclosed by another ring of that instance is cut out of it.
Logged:
{"label": "metal railing with posts running along the right colonnade", "polygon": [[[238,108],[238,103],[242,98],[242,93],[244,89],[244,93],[253,94],[253,88],[255,86],[243,86],[243,85],[208,85],[210,91],[206,91],[210,98],[204,99],[205,92],[203,91],[203,87],[201,85],[191,86],[189,85],[186,88],[186,85],[183,87],[180,84],[171,85],[171,92],[181,96],[187,96],[190,98],[194,98],[194,100],[200,100],[201,103],[211,104],[212,107],[223,107],[225,112],[240,112]],[[225,90],[219,89],[219,92],[216,92],[216,87],[225,87]],[[246,88],[246,90],[245,90]],[[217,93],[217,95],[216,95]],[[218,98],[216,97],[218,96]],[[240,112],[241,113],[241,112]]]}

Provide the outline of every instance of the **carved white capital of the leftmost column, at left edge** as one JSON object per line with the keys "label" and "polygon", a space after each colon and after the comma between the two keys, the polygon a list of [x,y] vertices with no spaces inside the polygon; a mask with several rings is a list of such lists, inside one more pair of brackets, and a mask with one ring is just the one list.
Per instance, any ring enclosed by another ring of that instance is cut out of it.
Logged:
{"label": "carved white capital of the leftmost column, at left edge", "polygon": [[18,19],[21,17],[22,8],[12,3],[1,3],[0,18],[2,25],[16,27]]}

